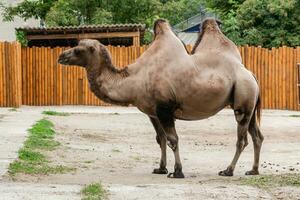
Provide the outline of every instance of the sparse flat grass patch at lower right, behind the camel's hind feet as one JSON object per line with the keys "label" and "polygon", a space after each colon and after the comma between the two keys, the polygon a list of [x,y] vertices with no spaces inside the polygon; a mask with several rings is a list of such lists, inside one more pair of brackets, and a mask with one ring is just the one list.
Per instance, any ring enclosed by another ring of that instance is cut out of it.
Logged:
{"label": "sparse flat grass patch at lower right, behind the camel's hind feet", "polygon": [[259,188],[295,186],[300,187],[300,174],[281,174],[252,176],[241,180],[244,185],[252,185]]}

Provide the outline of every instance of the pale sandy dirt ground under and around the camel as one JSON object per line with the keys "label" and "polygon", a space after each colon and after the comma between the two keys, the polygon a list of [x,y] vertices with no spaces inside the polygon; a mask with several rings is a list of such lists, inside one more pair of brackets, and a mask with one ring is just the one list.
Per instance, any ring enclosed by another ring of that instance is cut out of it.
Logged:
{"label": "pale sandy dirt ground under and around the camel", "polygon": [[[128,108],[129,110],[131,108]],[[298,113],[299,114],[299,113]],[[236,123],[231,110],[201,121],[176,121],[185,179],[152,174],[159,165],[160,149],[146,115],[75,113],[47,116],[58,132],[61,146],[48,156],[54,164],[76,168],[67,174],[18,175],[14,182],[84,185],[101,182],[109,199],[300,199],[299,187],[259,189],[242,185],[251,169],[253,145],[242,153],[233,177],[217,173],[230,163],[235,151]],[[262,117],[265,141],[262,175],[300,173],[300,117],[266,111]],[[168,149],[169,172],[174,157]],[[12,182],[9,177],[6,181]]]}

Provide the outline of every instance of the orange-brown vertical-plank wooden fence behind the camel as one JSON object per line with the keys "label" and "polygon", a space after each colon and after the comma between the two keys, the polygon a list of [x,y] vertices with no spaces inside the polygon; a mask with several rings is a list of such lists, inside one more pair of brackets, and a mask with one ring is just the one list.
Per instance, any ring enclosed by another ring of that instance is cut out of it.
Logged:
{"label": "orange-brown vertical-plank wooden fence behind the camel", "polygon": [[[57,63],[66,48],[0,44],[0,106],[107,105],[90,92],[84,69]],[[108,46],[118,67],[133,63],[146,48]],[[260,82],[263,108],[300,110],[300,48],[239,49],[245,66]]]}

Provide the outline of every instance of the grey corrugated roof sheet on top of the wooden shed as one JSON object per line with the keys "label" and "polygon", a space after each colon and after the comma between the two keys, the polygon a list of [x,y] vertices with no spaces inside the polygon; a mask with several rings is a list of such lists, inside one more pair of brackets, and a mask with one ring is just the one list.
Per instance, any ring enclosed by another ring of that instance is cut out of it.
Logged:
{"label": "grey corrugated roof sheet on top of the wooden shed", "polygon": [[17,31],[27,34],[58,34],[58,33],[95,33],[95,32],[136,32],[144,33],[144,24],[98,24],[81,26],[57,26],[57,27],[19,27]]}

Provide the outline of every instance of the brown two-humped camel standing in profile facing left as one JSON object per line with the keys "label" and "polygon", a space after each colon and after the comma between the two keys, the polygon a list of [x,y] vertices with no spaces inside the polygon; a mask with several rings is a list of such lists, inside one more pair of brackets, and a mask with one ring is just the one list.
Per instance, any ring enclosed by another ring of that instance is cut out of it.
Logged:
{"label": "brown two-humped camel standing in profile facing left", "polygon": [[[221,33],[215,21],[214,26]],[[58,62],[82,66],[87,71],[91,91],[101,100],[118,105],[133,105],[149,116],[161,148],[155,174],[168,174],[166,147],[173,150],[174,172],[170,178],[184,178],[179,155],[175,120],[201,120],[230,105],[238,123],[237,150],[229,167],[219,175],[232,176],[238,157],[246,146],[249,130],[255,147],[255,159],[248,175],[258,174],[259,151],[263,137],[257,118],[260,113],[259,87],[253,75],[236,55],[222,48],[204,48],[202,41],[189,55],[165,20],[154,24],[155,39],[150,47],[124,69],[117,69],[107,48],[96,40],[81,40],[64,51]],[[221,40],[221,36],[219,38]],[[228,42],[223,41],[223,45]],[[217,44],[217,43],[216,43]],[[226,48],[224,48],[226,50]]]}

